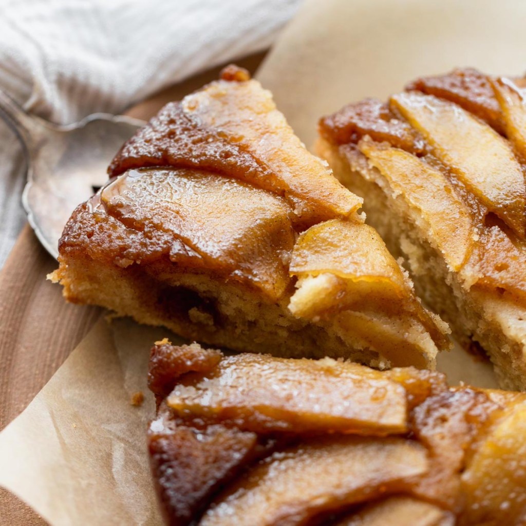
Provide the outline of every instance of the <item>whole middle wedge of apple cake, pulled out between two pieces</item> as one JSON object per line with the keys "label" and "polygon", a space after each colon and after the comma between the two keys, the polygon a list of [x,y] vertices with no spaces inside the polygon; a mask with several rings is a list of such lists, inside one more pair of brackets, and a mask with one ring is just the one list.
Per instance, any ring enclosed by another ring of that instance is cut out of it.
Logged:
{"label": "whole middle wedge of apple cake, pulled out between two pieces", "polygon": [[361,198],[244,70],[168,104],[109,174],[60,240],[67,300],[278,356],[433,367],[449,346]]}

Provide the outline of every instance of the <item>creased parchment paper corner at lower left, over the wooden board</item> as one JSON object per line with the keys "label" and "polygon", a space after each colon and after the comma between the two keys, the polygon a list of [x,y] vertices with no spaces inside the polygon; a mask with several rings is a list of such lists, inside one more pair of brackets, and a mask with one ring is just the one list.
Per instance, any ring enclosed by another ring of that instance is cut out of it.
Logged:
{"label": "creased parchment paper corner at lower left, over the wooden board", "polygon": [[[146,454],[148,349],[166,329],[102,317],[0,433],[0,483],[54,526],[161,524]],[[142,391],[143,404],[131,396]]]}

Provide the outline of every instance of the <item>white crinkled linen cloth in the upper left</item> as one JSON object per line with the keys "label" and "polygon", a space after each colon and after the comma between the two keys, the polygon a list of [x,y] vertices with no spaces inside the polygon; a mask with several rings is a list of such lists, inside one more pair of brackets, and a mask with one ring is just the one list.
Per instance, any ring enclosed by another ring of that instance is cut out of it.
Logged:
{"label": "white crinkled linen cloth in the upper left", "polygon": [[[0,2],[0,88],[66,124],[270,46],[301,0]],[[25,222],[21,149],[0,122],[0,267]]]}

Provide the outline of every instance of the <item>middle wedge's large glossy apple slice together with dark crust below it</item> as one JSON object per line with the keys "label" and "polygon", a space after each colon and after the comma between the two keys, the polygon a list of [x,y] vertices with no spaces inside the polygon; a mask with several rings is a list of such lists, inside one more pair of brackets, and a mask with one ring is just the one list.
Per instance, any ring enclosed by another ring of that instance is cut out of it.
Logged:
{"label": "middle wedge's large glossy apple slice together with dark crust below it", "polygon": [[131,170],[80,205],[59,241],[121,268],[157,264],[241,281],[276,300],[290,286],[290,208],[199,170]]}

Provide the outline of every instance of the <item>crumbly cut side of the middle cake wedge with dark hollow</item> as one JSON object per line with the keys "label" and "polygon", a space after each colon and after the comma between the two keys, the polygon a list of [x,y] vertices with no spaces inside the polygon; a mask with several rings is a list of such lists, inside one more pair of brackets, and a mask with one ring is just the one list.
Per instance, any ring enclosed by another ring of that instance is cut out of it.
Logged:
{"label": "crumbly cut side of the middle cake wedge with dark hollow", "polygon": [[[381,369],[390,366],[388,357],[424,367],[425,359],[415,354],[433,347],[428,333],[403,317],[343,313],[341,319],[312,322],[292,315],[289,296],[268,301],[236,282],[177,272],[170,265],[122,269],[100,265],[80,251],[69,255],[66,265],[67,272],[57,271],[53,279],[60,279],[69,301],[101,305],[189,340],[282,357],[342,357]],[[375,348],[382,338],[391,340],[393,349],[380,356]]]}

